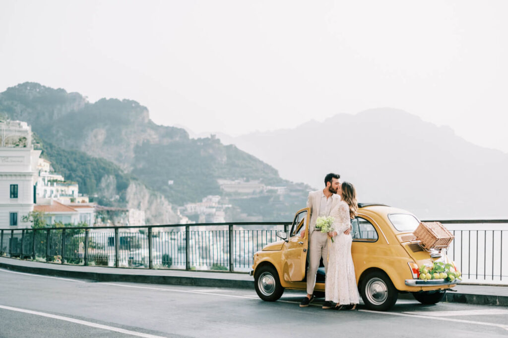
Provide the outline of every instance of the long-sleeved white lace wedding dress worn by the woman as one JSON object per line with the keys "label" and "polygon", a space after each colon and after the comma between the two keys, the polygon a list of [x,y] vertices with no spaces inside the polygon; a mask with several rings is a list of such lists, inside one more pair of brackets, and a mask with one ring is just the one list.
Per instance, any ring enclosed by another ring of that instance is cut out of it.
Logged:
{"label": "long-sleeved white lace wedding dress worn by the woman", "polygon": [[325,300],[340,305],[358,304],[358,287],[356,285],[355,266],[351,256],[351,234],[344,234],[350,228],[350,208],[346,202],[340,201],[330,212],[335,220],[333,229],[337,235],[330,242],[328,269],[325,282]]}

